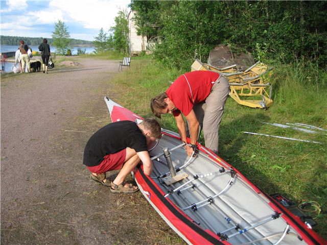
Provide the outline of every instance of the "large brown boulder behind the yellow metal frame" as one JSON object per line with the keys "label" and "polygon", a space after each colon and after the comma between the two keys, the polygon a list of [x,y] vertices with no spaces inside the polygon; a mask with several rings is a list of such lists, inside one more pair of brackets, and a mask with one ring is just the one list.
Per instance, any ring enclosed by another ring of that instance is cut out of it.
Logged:
{"label": "large brown boulder behind the yellow metal frame", "polygon": [[210,51],[207,63],[218,68],[236,64],[238,70],[245,70],[255,62],[251,54],[235,54],[228,46],[221,44]]}

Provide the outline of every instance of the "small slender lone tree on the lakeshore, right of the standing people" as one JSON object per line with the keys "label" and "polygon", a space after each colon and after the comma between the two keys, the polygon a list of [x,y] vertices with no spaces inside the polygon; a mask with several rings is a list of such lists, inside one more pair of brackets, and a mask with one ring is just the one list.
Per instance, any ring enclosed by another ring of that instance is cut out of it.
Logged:
{"label": "small slender lone tree on the lakeshore, right of the standing people", "polygon": [[55,23],[55,31],[52,33],[53,43],[58,53],[65,55],[71,41],[71,35],[67,27],[60,19]]}

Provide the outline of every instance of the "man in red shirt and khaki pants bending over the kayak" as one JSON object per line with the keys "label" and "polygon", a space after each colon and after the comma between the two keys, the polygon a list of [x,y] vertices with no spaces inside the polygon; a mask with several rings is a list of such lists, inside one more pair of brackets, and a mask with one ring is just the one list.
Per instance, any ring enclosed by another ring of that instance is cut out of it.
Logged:
{"label": "man in red shirt and khaki pants bending over the kayak", "polygon": [[[165,93],[154,97],[151,110],[158,118],[161,114],[173,114],[178,133],[186,142],[188,134],[183,114],[188,122],[192,146],[196,144],[203,126],[206,148],[218,154],[218,131],[228,93],[228,80],[217,72],[192,71],[178,77]],[[186,152],[191,156],[192,147],[186,146]]]}

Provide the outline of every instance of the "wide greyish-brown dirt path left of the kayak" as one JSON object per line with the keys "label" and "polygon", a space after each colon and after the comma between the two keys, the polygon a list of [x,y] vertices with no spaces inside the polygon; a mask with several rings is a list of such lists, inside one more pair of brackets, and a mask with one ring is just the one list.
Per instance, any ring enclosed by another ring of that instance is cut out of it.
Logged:
{"label": "wide greyish-brown dirt path left of the kayak", "polygon": [[72,59],[1,80],[1,243],[182,243],[141,193],[89,180],[83,150],[109,122],[118,61]]}

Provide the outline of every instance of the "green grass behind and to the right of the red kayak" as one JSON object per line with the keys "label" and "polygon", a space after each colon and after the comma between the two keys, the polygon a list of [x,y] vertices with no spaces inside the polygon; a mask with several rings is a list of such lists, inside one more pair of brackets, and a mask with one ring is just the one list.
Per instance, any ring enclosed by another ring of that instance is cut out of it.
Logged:
{"label": "green grass behind and to the right of the red kayak", "polygon": [[[322,212],[316,218],[318,225],[314,229],[325,238],[327,134],[303,133],[263,122],[298,122],[327,129],[326,74],[325,70],[304,62],[276,65],[270,81],[274,87],[271,108],[266,111],[248,108],[228,98],[219,131],[219,155],[255,185],[269,194],[282,193],[297,203],[311,200],[321,205]],[[154,117],[150,110],[151,98],[164,92],[179,75],[180,71],[167,69],[151,57],[132,58],[131,69],[115,78],[114,88],[108,90],[108,94],[135,113]],[[177,132],[171,115],[162,115],[158,121],[162,128]],[[321,144],[247,135],[244,131]]]}

